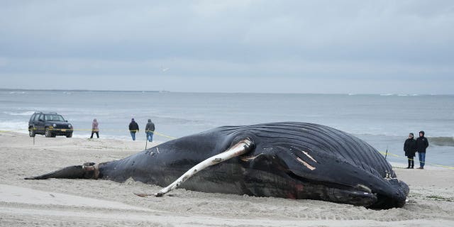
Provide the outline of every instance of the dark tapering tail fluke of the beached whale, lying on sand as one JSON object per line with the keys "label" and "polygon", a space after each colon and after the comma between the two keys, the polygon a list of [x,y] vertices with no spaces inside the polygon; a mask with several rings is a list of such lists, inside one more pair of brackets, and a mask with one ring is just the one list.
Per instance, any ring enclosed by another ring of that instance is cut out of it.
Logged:
{"label": "dark tapering tail fluke of the beached whale, lying on sand", "polygon": [[97,179],[99,176],[99,165],[93,162],[84,163],[84,165],[72,165],[61,170],[50,172],[45,175],[36,177],[26,177],[24,179],[48,179],[48,178],[65,178],[65,179]]}

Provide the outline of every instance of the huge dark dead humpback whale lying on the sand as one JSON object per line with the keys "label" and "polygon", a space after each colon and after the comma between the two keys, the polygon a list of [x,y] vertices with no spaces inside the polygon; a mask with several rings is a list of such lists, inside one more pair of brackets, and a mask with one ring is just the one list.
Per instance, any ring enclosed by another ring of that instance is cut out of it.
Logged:
{"label": "huge dark dead humpback whale lying on the sand", "polygon": [[378,209],[403,206],[409,193],[409,187],[369,144],[328,126],[297,122],[223,126],[170,140],[122,160],[85,163],[26,179],[124,182],[130,177],[168,185],[157,196],[182,187]]}

